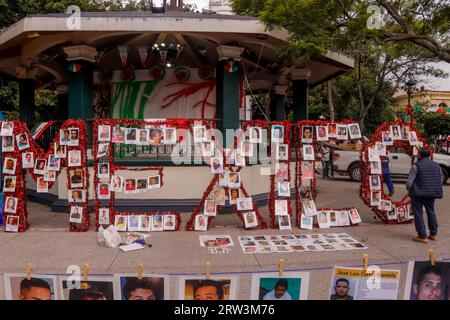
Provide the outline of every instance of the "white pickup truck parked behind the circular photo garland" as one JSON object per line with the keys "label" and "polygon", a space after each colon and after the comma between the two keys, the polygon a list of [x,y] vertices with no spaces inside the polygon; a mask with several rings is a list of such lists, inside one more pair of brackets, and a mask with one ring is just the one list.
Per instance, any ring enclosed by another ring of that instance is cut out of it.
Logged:
{"label": "white pickup truck parked behind the circular photo garland", "polygon": [[[333,170],[335,174],[348,175],[351,180],[359,181],[360,151],[349,150],[347,147],[340,146],[333,146],[333,149]],[[392,149],[388,156],[392,179],[406,180],[411,169],[411,157],[401,148]],[[450,156],[436,153],[433,155],[433,160],[441,166],[445,184],[450,173]]]}

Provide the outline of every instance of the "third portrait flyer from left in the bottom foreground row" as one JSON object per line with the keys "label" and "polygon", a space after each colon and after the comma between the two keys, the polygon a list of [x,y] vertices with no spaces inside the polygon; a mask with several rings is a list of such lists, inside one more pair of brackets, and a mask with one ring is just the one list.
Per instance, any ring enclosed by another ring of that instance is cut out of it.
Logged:
{"label": "third portrait flyer from left in the bottom foreground row", "polygon": [[139,279],[136,275],[115,274],[116,283],[120,288],[120,300],[169,300],[169,276],[158,274],[143,274]]}

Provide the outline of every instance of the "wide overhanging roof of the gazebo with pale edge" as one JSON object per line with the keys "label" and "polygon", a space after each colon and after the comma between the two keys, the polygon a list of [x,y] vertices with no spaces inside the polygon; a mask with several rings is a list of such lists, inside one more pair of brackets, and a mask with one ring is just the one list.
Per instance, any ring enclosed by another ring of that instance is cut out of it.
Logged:
{"label": "wide overhanging roof of the gazebo with pale edge", "polygon": [[[254,89],[283,84],[294,66],[278,57],[280,46],[287,43],[286,30],[266,30],[256,18],[236,15],[199,14],[188,12],[83,12],[80,28],[72,28],[69,14],[38,14],[28,16],[0,33],[0,73],[17,78],[18,69],[26,68],[28,77],[41,85],[67,82],[63,48],[87,45],[103,51],[99,67],[120,69],[118,46],[130,47],[129,63],[141,67],[137,50],[154,43],[184,45],[179,65],[199,67],[215,65],[216,47],[222,45],[244,48],[242,61]],[[206,55],[198,52],[206,48]],[[151,57],[149,63],[158,63]],[[311,86],[318,85],[353,68],[353,60],[336,52],[310,60],[302,65],[310,68]]]}

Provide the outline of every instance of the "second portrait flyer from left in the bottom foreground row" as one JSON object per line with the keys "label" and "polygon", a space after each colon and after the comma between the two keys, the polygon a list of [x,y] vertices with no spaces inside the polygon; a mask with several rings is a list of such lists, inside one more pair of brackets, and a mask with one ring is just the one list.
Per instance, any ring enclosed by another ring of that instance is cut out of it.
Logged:
{"label": "second portrait flyer from left in the bottom foreground row", "polygon": [[115,294],[114,278],[112,277],[89,277],[89,281],[78,282],[78,287],[69,289],[72,285],[68,277],[59,280],[60,292],[63,300],[118,300]]}

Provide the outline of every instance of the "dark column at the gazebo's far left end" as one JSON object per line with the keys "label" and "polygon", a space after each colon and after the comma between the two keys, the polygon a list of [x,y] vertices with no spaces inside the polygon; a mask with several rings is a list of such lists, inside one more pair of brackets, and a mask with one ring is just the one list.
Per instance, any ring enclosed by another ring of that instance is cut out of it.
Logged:
{"label": "dark column at the gazebo's far left end", "polygon": [[25,122],[30,128],[33,127],[36,122],[36,117],[34,114],[36,111],[34,100],[35,88],[36,82],[34,81],[34,79],[19,79],[20,120]]}

